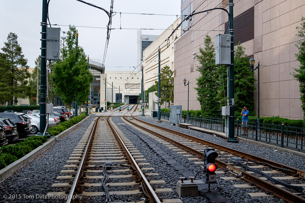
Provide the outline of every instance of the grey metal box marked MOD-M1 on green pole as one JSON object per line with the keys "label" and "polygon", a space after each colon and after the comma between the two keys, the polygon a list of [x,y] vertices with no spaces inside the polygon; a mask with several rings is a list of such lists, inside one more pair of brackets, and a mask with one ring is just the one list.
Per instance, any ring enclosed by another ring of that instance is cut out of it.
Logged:
{"label": "grey metal box marked MOD-M1 on green pole", "polygon": [[60,28],[47,27],[47,60],[60,60]]}

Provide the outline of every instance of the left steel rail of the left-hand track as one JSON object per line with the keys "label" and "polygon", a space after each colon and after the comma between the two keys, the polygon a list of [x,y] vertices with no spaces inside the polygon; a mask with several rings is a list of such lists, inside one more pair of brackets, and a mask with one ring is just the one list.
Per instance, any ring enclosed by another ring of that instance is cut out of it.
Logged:
{"label": "left steel rail of the left-hand track", "polygon": [[86,145],[83,157],[81,158],[81,162],[79,164],[79,167],[78,167],[77,173],[75,175],[75,178],[74,178],[74,181],[73,181],[73,184],[72,184],[72,187],[71,187],[71,190],[70,190],[70,193],[69,193],[69,196],[67,198],[66,203],[70,203],[71,201],[72,202],[75,201],[75,199],[73,198],[73,195],[75,194],[75,190],[76,190],[77,185],[79,183],[80,174],[83,174],[83,172],[84,172],[84,166],[85,166],[86,158],[87,158],[87,155],[88,155],[88,148],[89,148],[89,145],[91,144],[90,143],[91,142],[91,138],[92,138],[93,133],[95,132],[96,125],[97,125],[97,122],[99,121],[100,117],[102,117],[102,116],[99,116],[95,120],[95,122],[94,122],[93,128],[92,128],[91,133],[90,133],[90,137],[88,139],[88,142],[87,142],[87,145]]}

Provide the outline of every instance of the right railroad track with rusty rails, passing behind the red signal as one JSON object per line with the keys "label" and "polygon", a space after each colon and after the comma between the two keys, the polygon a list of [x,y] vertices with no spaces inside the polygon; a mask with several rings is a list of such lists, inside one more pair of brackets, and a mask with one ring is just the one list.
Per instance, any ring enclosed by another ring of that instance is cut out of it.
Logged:
{"label": "right railroad track with rusty rails, passing behind the red signal", "polygon": [[[235,177],[222,177],[223,179],[242,179],[249,182],[250,184],[235,185],[235,187],[251,188],[257,186],[266,191],[266,194],[249,194],[252,197],[262,195],[270,196],[273,194],[288,202],[305,202],[305,196],[302,196],[305,195],[305,171],[303,170],[286,166],[281,163],[277,163],[255,155],[247,154],[235,149],[217,145],[215,143],[186,135],[184,133],[146,123],[134,116],[132,116],[132,118],[123,118],[127,123],[142,129],[142,132],[143,130],[146,131],[157,141],[162,142],[168,146],[170,146],[170,144],[176,145],[177,147],[171,147],[176,152],[183,153],[182,151],[184,151],[185,153],[190,152],[191,154],[196,155],[197,158],[190,158],[190,160],[194,160],[196,161],[195,163],[198,164],[203,164],[203,151],[205,148],[215,148],[215,151],[217,151],[219,154],[215,160],[215,163],[225,172],[229,172],[235,175]],[[260,174],[257,175],[258,173]],[[263,173],[267,175],[264,175]],[[268,176],[271,176],[271,178],[274,179],[270,179]],[[278,182],[278,179],[284,181],[288,180],[288,182],[293,180],[294,182],[298,182],[298,184],[293,184],[293,186],[282,186],[281,183]]]}

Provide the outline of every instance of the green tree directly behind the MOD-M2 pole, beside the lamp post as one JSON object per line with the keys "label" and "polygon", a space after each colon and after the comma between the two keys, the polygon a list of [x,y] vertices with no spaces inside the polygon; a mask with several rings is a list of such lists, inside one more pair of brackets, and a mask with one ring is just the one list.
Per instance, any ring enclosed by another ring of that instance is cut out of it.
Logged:
{"label": "green tree directly behind the MOD-M2 pole, beside the lamp post", "polygon": [[[255,115],[253,91],[256,89],[254,71],[249,68],[249,59],[245,54],[245,47],[239,42],[234,52],[234,105],[235,116],[239,116],[242,107],[247,106],[250,115]],[[227,68],[219,67],[220,84],[218,100],[227,103]],[[222,76],[221,76],[222,75]],[[223,79],[223,80],[222,80]],[[224,97],[225,95],[225,97]]]}

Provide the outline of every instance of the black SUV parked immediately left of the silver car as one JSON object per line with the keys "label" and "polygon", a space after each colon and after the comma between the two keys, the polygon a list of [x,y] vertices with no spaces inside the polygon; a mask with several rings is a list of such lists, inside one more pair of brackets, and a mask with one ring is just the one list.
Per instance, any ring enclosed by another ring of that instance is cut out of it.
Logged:
{"label": "black SUV parked immediately left of the silver car", "polygon": [[10,118],[16,125],[19,137],[30,135],[32,126],[30,118],[22,113],[0,113],[0,118]]}

